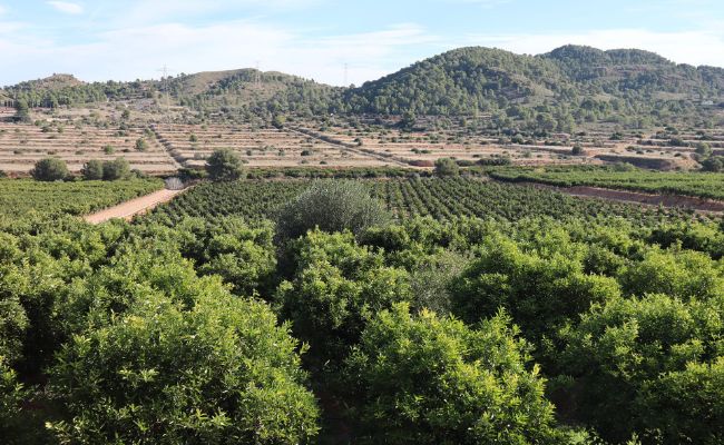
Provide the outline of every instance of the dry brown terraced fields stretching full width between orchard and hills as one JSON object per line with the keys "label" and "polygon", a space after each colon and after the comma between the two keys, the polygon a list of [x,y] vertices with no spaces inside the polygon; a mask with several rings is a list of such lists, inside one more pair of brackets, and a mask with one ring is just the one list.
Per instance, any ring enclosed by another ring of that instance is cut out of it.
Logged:
{"label": "dry brown terraced fields stretching full width between orchard and hills", "polygon": [[[6,111],[11,115],[11,110]],[[124,119],[126,111],[130,119]],[[219,148],[237,151],[250,167],[288,168],[431,168],[439,158],[454,158],[469,165],[629,162],[658,170],[689,170],[698,168],[697,144],[705,142],[714,154],[724,155],[722,128],[655,128],[642,132],[604,125],[584,127],[574,135],[522,137],[470,126],[464,120],[432,118],[420,119],[412,130],[401,128],[399,119],[373,116],[295,118],[284,128],[262,119],[245,123],[178,123],[194,121],[198,119],[190,109],[163,107],[158,99],[35,110],[32,123],[0,121],[0,170],[27,174],[38,159],[56,156],[66,160],[71,171],[79,171],[89,159],[125,157],[134,169],[164,175],[180,167],[200,168]],[[139,139],[147,142],[143,151],[136,149]],[[574,156],[574,146],[583,152]]]}

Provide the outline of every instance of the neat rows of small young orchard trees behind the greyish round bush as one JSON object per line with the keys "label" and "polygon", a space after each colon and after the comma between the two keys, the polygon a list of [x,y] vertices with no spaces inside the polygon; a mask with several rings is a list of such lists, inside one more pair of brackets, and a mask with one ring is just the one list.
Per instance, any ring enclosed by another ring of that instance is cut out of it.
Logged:
{"label": "neat rows of small young orchard trees behind the greyish round bush", "polygon": [[[464,177],[359,182],[368,187],[372,197],[384,201],[400,219],[431,216],[439,220],[453,220],[460,217],[516,220],[531,216],[549,216],[595,221],[623,217],[637,224],[649,225],[678,217],[676,209],[663,212],[636,205],[579,199],[551,190]],[[169,220],[177,220],[184,216],[207,215],[239,215],[251,219],[273,218],[278,215],[282,207],[293,201],[310,185],[310,181],[256,180],[202,184],[183,194],[168,206],[159,208],[155,217]],[[682,212],[682,215],[686,214]]]}

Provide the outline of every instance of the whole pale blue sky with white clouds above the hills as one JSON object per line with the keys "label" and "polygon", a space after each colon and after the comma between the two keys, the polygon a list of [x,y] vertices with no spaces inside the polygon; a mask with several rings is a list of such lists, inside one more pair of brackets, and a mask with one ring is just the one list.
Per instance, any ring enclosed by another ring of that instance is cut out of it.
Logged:
{"label": "whole pale blue sky with white clouds above the hills", "polygon": [[359,86],[459,47],[567,43],[724,67],[724,0],[0,0],[0,86],[157,79],[164,67]]}

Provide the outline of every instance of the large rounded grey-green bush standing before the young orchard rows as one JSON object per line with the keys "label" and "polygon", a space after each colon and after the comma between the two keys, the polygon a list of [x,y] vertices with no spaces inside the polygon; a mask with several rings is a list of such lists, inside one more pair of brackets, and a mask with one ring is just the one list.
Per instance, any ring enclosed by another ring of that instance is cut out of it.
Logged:
{"label": "large rounded grey-green bush standing before the young orchard rows", "polygon": [[330,233],[351,230],[359,234],[389,218],[384,205],[370,197],[363,184],[315,181],[281,209],[277,231],[282,239],[296,238],[315,227]]}

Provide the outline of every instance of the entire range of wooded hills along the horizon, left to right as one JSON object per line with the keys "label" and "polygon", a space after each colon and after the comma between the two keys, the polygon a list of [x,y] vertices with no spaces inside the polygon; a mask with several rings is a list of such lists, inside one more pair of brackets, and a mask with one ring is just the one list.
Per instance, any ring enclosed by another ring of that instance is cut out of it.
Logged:
{"label": "entire range of wooded hills along the horizon, left to right", "polygon": [[539,56],[460,48],[359,88],[253,69],[162,81],[23,82],[7,96],[31,106],[158,98],[204,111],[491,116],[498,127],[571,131],[583,122],[712,122],[724,108],[724,69],[677,65],[652,52],[565,46]]}

